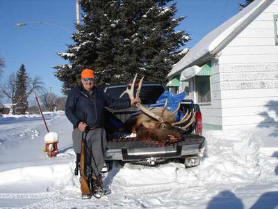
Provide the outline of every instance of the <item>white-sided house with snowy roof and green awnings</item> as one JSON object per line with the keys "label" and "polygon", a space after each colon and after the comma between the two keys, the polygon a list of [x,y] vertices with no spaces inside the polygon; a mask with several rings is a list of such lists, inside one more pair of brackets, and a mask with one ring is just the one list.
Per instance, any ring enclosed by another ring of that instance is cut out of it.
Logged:
{"label": "white-sided house with snowy roof and green awnings", "polygon": [[255,0],[208,33],[167,79],[199,103],[208,128],[278,125],[278,0]]}

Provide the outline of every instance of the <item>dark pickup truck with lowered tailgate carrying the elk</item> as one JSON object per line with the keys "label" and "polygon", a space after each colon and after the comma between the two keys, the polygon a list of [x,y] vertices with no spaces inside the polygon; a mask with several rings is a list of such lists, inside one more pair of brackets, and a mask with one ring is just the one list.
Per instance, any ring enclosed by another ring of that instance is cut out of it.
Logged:
{"label": "dark pickup truck with lowered tailgate carrying the elk", "polygon": [[[119,99],[122,92],[129,85],[117,84],[106,86],[104,92],[111,98]],[[136,86],[134,91],[136,91]],[[146,107],[149,104],[155,104],[160,95],[167,91],[163,84],[143,84],[140,91],[140,100]],[[128,95],[124,95],[122,100],[129,100]],[[183,100],[180,106],[183,113],[188,109],[195,112],[195,122],[190,125],[188,130],[183,131],[182,140],[176,144],[169,146],[156,146],[144,141],[139,141],[133,137],[131,133],[115,133],[107,132],[106,144],[106,164],[111,164],[113,161],[136,162],[149,164],[151,166],[156,163],[163,162],[168,159],[178,158],[188,167],[195,167],[199,164],[204,155],[206,139],[202,137],[202,114],[198,104],[194,104],[193,100]],[[106,108],[106,121],[111,121],[113,118],[117,123],[124,123],[132,114],[138,111],[135,107],[128,109],[108,109]]]}

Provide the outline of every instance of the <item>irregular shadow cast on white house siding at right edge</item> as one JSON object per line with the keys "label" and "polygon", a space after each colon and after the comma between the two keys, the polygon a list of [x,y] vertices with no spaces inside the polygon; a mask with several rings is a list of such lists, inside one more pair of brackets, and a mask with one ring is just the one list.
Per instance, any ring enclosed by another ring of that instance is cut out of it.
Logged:
{"label": "irregular shadow cast on white house siding at right edge", "polygon": [[[278,101],[271,100],[267,104],[265,104],[265,107],[268,108],[268,111],[263,111],[259,113],[260,116],[262,116],[264,119],[257,125],[257,127],[260,128],[267,128],[267,127],[278,127],[277,121],[275,121],[275,117],[278,115]],[[269,112],[274,111],[274,116],[270,116]],[[278,131],[275,130],[272,133],[269,134],[270,137],[278,137]]]}

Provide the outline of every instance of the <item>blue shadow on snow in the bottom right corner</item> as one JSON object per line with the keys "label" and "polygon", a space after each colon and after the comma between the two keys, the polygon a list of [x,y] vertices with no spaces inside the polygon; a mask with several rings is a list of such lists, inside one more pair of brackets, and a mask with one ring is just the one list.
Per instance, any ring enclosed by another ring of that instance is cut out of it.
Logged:
{"label": "blue shadow on snow in the bottom right corner", "polygon": [[250,209],[268,209],[278,206],[278,192],[265,192]]}

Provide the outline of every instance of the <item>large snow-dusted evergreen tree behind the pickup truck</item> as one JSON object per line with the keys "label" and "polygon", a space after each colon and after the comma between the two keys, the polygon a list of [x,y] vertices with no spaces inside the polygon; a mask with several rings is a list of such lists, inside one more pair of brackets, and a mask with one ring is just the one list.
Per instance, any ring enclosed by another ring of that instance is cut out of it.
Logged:
{"label": "large snow-dusted evergreen tree behind the pickup truck", "polygon": [[175,18],[170,1],[81,1],[83,24],[72,36],[75,43],[59,53],[70,63],[54,67],[64,90],[78,83],[83,68],[94,69],[100,85],[130,82],[136,72],[145,81],[165,82],[189,39],[174,31],[184,17]]}

